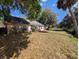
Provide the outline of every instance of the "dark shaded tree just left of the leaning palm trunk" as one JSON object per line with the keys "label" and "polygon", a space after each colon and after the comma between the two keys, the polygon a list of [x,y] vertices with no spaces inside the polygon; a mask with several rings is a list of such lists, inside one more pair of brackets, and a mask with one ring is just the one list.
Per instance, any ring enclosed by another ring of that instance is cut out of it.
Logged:
{"label": "dark shaded tree just left of the leaning palm trunk", "polygon": [[69,15],[66,15],[63,19],[63,21],[60,23],[60,27],[63,28],[64,30],[68,31],[70,29],[73,29],[73,23],[72,23],[72,18]]}

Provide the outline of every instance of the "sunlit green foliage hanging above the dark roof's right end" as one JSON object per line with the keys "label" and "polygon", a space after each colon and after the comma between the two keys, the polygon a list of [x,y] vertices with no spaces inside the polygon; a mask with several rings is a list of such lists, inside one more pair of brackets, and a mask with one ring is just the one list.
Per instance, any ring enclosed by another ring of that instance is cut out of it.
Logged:
{"label": "sunlit green foliage hanging above the dark roof's right end", "polygon": [[40,0],[21,0],[20,2],[23,8],[27,9],[28,19],[38,18],[41,12]]}

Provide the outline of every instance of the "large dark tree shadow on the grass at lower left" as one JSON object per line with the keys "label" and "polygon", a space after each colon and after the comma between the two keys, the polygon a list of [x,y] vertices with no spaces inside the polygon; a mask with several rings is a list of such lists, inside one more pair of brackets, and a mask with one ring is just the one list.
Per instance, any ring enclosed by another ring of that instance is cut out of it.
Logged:
{"label": "large dark tree shadow on the grass at lower left", "polygon": [[14,59],[18,57],[23,49],[28,47],[29,37],[27,34],[17,33],[5,36],[2,40],[3,48],[0,50],[0,59]]}

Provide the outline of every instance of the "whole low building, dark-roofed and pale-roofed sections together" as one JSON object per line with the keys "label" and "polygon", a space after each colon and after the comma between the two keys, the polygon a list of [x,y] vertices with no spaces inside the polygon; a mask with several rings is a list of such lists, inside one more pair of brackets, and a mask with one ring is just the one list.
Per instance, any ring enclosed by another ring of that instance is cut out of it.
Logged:
{"label": "whole low building, dark-roofed and pale-roofed sections together", "polygon": [[45,26],[37,21],[30,21],[14,16],[5,17],[3,20],[4,21],[0,23],[2,24],[0,25],[0,31],[2,32],[4,30],[7,34],[13,32],[31,32],[33,27],[35,27],[37,31],[46,30]]}

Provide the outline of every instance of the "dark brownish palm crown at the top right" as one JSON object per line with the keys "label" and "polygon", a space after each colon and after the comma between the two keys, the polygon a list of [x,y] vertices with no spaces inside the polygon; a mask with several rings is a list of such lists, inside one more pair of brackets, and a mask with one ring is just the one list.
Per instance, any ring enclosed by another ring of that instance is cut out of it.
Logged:
{"label": "dark brownish palm crown at the top right", "polygon": [[72,7],[77,2],[77,0],[58,0],[57,7],[59,9],[66,10],[69,7]]}

